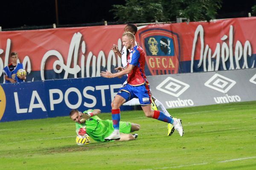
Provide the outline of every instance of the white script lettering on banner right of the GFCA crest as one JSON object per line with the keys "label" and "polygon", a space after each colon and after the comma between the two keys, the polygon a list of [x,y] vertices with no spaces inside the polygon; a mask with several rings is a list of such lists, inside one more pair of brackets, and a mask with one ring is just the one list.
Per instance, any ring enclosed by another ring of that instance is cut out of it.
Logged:
{"label": "white script lettering on banner right of the GFCA crest", "polygon": [[[255,61],[253,61],[253,64],[248,66],[247,63],[247,55],[249,57],[252,56],[252,46],[248,40],[244,43],[244,49],[239,40],[236,41],[236,47],[235,47],[235,62],[236,62],[236,68],[234,66],[233,61],[233,26],[230,26],[229,31],[229,41],[227,42],[227,35],[224,35],[221,40],[223,41],[222,44],[216,43],[216,48],[214,53],[212,54],[212,49],[209,48],[209,45],[207,44],[204,48],[204,28],[202,25],[199,25],[195,30],[195,37],[193,40],[193,47],[192,47],[192,55],[191,55],[191,65],[190,65],[190,72],[193,73],[193,65],[194,65],[194,58],[195,58],[195,51],[197,49],[198,43],[198,36],[199,36],[199,42],[201,44],[200,48],[200,60],[198,63],[198,67],[201,67],[203,65],[204,71],[218,71],[219,65],[220,65],[220,58],[222,62],[222,67],[224,70],[233,70],[233,69],[239,69],[239,60],[242,58],[243,55],[243,61],[244,64],[242,68],[254,68]],[[212,62],[212,58],[216,59],[216,62]],[[229,59],[230,61],[230,67],[227,68],[225,62]],[[208,67],[207,67],[208,65]]]}

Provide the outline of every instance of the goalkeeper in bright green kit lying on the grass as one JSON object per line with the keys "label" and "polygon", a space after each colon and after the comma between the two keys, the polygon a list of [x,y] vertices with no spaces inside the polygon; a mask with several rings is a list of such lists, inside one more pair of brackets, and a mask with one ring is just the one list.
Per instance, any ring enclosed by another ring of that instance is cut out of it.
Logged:
{"label": "goalkeeper in bright green kit lying on the grass", "polygon": [[[105,137],[113,133],[113,122],[111,120],[102,120],[98,116],[101,113],[99,109],[89,109],[81,113],[73,109],[70,111],[70,118],[76,122],[77,135],[84,136],[87,133],[93,140],[97,142],[105,142]],[[131,122],[120,122],[120,140],[128,141],[137,138],[137,134],[131,132],[140,130],[140,125]]]}

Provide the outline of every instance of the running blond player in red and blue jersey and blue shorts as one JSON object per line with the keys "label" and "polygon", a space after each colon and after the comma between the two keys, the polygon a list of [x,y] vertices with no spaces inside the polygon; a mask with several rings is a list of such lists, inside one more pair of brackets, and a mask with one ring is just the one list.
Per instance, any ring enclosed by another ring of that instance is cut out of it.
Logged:
{"label": "running blond player in red and blue jersey and blue shorts", "polygon": [[172,117],[166,116],[161,111],[153,111],[151,109],[151,94],[148,80],[145,76],[145,53],[144,50],[135,45],[135,36],[131,32],[125,32],[122,35],[122,42],[126,49],[130,49],[130,54],[127,59],[127,68],[122,68],[119,72],[112,74],[108,71],[102,71],[101,76],[106,78],[120,77],[128,74],[127,84],[119,89],[114,100],[111,102],[112,107],[112,120],[113,120],[113,133],[105,138],[106,140],[118,140],[120,139],[120,106],[137,97],[140,101],[140,105],[145,113],[145,116],[151,117],[163,122],[171,123],[175,129],[179,132],[180,136],[183,136],[183,127],[180,119],[172,119]]}

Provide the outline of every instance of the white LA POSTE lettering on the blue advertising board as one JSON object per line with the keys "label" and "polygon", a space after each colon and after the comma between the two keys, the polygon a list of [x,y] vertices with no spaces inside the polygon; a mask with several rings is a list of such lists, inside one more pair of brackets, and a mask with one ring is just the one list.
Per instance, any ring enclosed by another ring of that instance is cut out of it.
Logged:
{"label": "white LA POSTE lettering on the blue advertising board", "polygon": [[[49,89],[50,110],[54,111],[55,110],[54,106],[60,104],[61,102],[63,102],[63,100],[65,102],[65,105],[70,109],[79,108],[81,105],[84,105],[87,108],[93,108],[97,104],[97,100],[99,100],[100,97],[101,97],[101,101],[102,101],[102,106],[106,106],[106,99],[109,99],[111,97],[111,101],[113,101],[114,96],[116,95],[116,93],[114,92],[114,89],[117,89],[117,88],[119,89],[121,87],[121,85],[122,84],[99,85],[99,86],[95,86],[95,88],[92,86],[87,86],[83,89],[82,94],[78,88],[74,88],[74,87],[70,87],[66,91],[61,91],[58,88]],[[88,94],[88,91],[94,92],[95,90],[99,90],[101,95],[93,96],[93,95]],[[108,95],[106,95],[106,90],[109,90],[109,91],[107,91]],[[70,103],[71,100],[74,99],[74,97],[72,97],[71,99],[69,97],[70,93],[72,93],[72,92],[75,93],[77,96],[77,102],[75,104]],[[58,96],[54,95],[54,94],[57,94]],[[87,102],[82,103],[83,97],[85,99],[92,100],[92,103],[87,103]],[[37,91],[32,91],[29,108],[20,108],[20,101],[22,101],[22,100],[19,100],[18,92],[14,92],[14,99],[15,99],[15,107],[16,107],[17,113],[31,113],[34,108],[41,108],[42,111],[47,111],[44,106],[44,103],[42,102]],[[37,104],[35,104],[35,99],[38,101]],[[48,104],[46,104],[46,105],[48,105]]]}

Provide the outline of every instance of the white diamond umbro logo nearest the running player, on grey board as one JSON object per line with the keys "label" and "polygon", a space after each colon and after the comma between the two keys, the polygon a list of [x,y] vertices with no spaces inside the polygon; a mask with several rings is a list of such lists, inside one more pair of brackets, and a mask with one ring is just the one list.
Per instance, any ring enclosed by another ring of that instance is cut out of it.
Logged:
{"label": "white diamond umbro logo nearest the running player, on grey board", "polygon": [[157,90],[163,91],[166,94],[178,97],[186,91],[190,85],[181,82],[180,80],[174,79],[172,77],[167,77],[163,82],[157,85]]}

